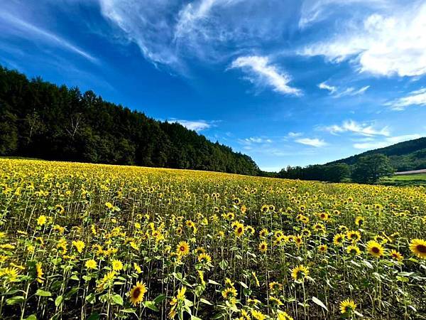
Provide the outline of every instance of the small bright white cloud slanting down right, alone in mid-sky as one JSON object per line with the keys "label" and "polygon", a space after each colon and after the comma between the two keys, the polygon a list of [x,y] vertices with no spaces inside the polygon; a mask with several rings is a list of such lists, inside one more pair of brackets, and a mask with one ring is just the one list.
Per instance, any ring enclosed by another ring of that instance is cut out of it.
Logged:
{"label": "small bright white cloud slanting down right, alone in mid-sky", "polygon": [[248,74],[247,79],[256,85],[268,85],[274,91],[283,95],[302,95],[302,92],[290,87],[290,76],[287,73],[280,72],[275,65],[269,63],[268,57],[251,55],[236,58],[229,68],[241,68]]}

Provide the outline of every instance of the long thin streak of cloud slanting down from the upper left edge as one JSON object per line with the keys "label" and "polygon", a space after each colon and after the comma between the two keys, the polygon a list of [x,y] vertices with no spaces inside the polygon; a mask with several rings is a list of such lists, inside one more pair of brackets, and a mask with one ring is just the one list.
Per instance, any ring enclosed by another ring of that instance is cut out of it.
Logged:
{"label": "long thin streak of cloud slanting down from the upper left edge", "polygon": [[[64,48],[65,50],[69,50],[72,53],[77,53],[77,55],[82,56],[92,63],[99,63],[97,58],[87,53],[82,48],[75,46],[55,33],[35,26],[27,21],[23,21],[21,18],[13,16],[8,12],[0,11],[0,21],[6,22],[6,24],[9,26],[8,30],[3,30],[3,32],[10,32],[15,36],[20,36],[21,38],[26,38],[31,41],[38,40],[42,41],[43,43],[49,43],[51,46],[58,46]],[[10,26],[12,26],[12,28],[10,28]]]}

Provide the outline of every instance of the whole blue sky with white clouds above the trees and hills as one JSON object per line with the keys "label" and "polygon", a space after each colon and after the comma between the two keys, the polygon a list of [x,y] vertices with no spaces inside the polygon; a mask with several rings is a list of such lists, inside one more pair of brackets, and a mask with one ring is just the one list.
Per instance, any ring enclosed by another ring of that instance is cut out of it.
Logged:
{"label": "whole blue sky with white clouds above the trees and hills", "polygon": [[178,121],[261,169],[426,135],[426,1],[3,1],[0,64]]}

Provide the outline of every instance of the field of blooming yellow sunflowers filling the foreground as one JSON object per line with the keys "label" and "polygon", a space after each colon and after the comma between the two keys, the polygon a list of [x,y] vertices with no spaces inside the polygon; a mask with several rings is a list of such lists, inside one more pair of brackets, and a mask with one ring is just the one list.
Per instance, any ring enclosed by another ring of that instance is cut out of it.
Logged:
{"label": "field of blooming yellow sunflowers filling the foreground", "polygon": [[0,159],[0,319],[426,319],[426,188]]}

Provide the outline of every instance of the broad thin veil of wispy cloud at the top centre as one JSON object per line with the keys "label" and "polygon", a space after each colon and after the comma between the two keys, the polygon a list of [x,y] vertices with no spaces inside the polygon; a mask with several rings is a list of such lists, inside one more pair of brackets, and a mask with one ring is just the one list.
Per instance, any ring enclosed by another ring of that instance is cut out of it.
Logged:
{"label": "broad thin veil of wispy cloud at the top centre", "polygon": [[185,73],[187,60],[227,63],[288,31],[299,6],[268,0],[98,0],[118,31],[111,40],[136,43],[144,58]]}

